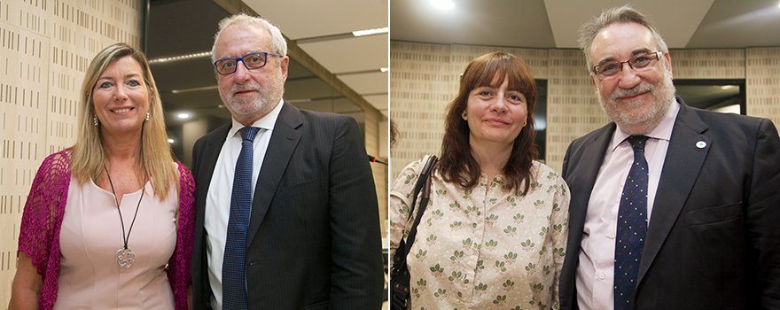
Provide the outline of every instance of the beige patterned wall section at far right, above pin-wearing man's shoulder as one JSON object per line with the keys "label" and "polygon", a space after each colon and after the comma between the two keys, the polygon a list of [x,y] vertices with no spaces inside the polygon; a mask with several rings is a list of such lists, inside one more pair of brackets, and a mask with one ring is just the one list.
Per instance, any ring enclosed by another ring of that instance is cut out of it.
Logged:
{"label": "beige patterned wall section at far right, above pin-wearing man's shoulder", "polygon": [[745,50],[747,115],[780,126],[780,47]]}

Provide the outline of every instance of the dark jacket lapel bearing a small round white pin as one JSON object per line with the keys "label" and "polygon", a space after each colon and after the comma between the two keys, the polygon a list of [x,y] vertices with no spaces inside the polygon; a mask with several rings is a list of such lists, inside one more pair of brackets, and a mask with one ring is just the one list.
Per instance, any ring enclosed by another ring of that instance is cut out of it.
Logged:
{"label": "dark jacket lapel bearing a small round white pin", "polygon": [[[680,112],[675,120],[675,128],[672,129],[667,157],[664,160],[659,187],[652,206],[650,225],[644,242],[644,254],[639,265],[637,291],[669,231],[679,218],[704,164],[709,145],[713,142],[711,136],[703,134],[708,127],[696,112],[685,105],[683,99],[677,97],[677,101],[680,102]],[[698,148],[697,143],[700,141],[704,141],[706,147]]]}

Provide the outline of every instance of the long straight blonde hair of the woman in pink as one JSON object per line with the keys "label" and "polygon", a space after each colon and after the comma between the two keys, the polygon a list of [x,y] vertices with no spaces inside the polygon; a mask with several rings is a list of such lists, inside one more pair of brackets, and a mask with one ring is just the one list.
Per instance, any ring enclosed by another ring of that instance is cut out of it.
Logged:
{"label": "long straight blonde hair of the woman in pink", "polygon": [[[100,74],[113,61],[120,58],[131,57],[136,59],[144,71],[144,82],[152,98],[149,106],[149,120],[144,121],[141,130],[141,151],[139,153],[138,167],[144,167],[146,175],[152,180],[152,189],[160,200],[168,196],[171,186],[177,179],[173,154],[168,145],[168,133],[165,128],[162,101],[157,85],[152,78],[152,71],[146,61],[146,56],[140,50],[136,50],[126,43],[115,43],[101,50],[87,68],[82,83],[82,92],[79,98],[80,117],[78,119],[78,136],[73,147],[70,159],[71,174],[80,183],[92,180],[98,183],[100,174],[105,165],[105,148],[100,135],[100,126],[94,125],[96,116],[95,105],[92,102],[92,91],[98,83]],[[178,186],[176,186],[178,188]]]}

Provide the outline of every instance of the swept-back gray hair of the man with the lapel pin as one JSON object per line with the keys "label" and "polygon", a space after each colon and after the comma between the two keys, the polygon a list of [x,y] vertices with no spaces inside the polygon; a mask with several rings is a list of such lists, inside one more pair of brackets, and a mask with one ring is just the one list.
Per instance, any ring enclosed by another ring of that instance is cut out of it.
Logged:
{"label": "swept-back gray hair of the man with the lapel pin", "polygon": [[650,30],[652,38],[655,40],[659,50],[662,50],[665,53],[669,52],[667,43],[664,42],[664,39],[658,32],[658,29],[652,25],[651,20],[644,16],[644,14],[641,12],[636,11],[633,7],[631,7],[631,5],[626,4],[601,12],[601,16],[590,19],[580,27],[580,49],[582,50],[582,53],[585,54],[585,62],[586,66],[588,66],[588,72],[593,72],[593,59],[590,58],[590,47],[593,44],[593,39],[595,39],[596,35],[598,35],[598,32],[601,31],[601,29],[604,29],[605,27],[614,23],[631,22],[642,25]]}

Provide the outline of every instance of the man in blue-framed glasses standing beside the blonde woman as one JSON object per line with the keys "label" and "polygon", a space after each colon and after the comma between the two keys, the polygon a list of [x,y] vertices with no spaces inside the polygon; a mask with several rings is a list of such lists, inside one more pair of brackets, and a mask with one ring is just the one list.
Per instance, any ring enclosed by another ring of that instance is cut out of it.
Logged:
{"label": "man in blue-framed glasses standing beside the blonde woman", "polygon": [[222,19],[212,61],[232,122],[193,147],[194,309],[378,309],[383,263],[363,136],[282,95],[290,59],[266,19]]}

